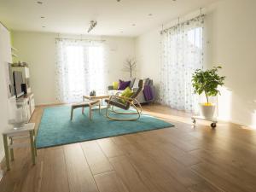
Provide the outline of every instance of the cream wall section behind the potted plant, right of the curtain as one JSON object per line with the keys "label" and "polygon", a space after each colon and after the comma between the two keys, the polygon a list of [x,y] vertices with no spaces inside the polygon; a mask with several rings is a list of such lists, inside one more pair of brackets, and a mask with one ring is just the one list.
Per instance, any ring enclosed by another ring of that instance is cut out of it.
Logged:
{"label": "cream wall section behind the potted plant, right of the curtain", "polygon": [[222,74],[227,76],[228,90],[220,96],[219,111],[224,119],[253,127],[256,127],[255,9],[255,0],[225,0],[209,15],[212,63],[220,63],[224,67]]}

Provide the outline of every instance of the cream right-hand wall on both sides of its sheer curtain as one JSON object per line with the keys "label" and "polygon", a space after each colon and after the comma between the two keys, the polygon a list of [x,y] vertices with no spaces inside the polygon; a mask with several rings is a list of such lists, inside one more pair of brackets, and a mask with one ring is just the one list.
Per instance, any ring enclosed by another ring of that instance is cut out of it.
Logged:
{"label": "cream right-hand wall on both sides of its sheer curtain", "polygon": [[[206,66],[221,64],[227,76],[219,117],[256,127],[256,1],[223,0],[206,8]],[[136,39],[140,77],[159,84],[160,29]],[[157,75],[158,74],[158,75]]]}

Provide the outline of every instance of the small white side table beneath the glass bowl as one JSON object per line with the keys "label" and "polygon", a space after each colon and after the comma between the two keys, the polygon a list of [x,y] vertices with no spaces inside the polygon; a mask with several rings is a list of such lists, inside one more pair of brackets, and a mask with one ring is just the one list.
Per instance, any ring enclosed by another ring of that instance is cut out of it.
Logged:
{"label": "small white side table beneath the glass bowl", "polygon": [[[18,139],[29,139],[29,141],[22,143],[15,143]],[[9,142],[10,141],[10,142]],[[14,148],[26,148],[30,146],[32,152],[32,163],[36,164],[37,148],[35,143],[35,124],[25,124],[23,128],[18,130],[11,129],[3,132],[3,144],[6,159],[7,170],[9,170],[9,151],[11,160],[14,160]]]}

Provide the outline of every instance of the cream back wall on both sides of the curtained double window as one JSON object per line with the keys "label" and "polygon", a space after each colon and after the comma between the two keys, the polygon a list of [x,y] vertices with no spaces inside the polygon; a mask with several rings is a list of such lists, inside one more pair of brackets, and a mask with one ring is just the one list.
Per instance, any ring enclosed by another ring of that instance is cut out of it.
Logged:
{"label": "cream back wall on both sides of the curtained double window", "polygon": [[[55,100],[55,33],[13,32],[13,41],[19,49],[19,59],[29,63],[32,92],[37,105],[56,103]],[[61,35],[61,38],[81,38]],[[83,37],[86,38],[86,37]],[[106,84],[112,84],[128,76],[122,72],[128,56],[135,56],[134,38],[92,37],[106,40],[108,77]],[[107,88],[106,88],[107,89]]]}

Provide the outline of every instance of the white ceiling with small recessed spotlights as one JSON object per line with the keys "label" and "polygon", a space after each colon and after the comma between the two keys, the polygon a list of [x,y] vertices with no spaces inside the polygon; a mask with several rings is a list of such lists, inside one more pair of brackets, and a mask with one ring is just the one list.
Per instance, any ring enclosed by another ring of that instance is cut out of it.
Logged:
{"label": "white ceiling with small recessed spotlights", "polygon": [[0,0],[0,21],[15,31],[88,34],[96,20],[90,35],[136,37],[216,1]]}

